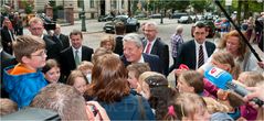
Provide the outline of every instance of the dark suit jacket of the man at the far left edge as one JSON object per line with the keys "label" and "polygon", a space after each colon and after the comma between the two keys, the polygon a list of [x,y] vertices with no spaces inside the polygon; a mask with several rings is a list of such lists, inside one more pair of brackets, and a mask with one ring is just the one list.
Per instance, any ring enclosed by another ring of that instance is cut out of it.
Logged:
{"label": "dark suit jacket of the man at the far left edge", "polygon": [[[12,32],[11,32],[11,35],[9,34],[8,28],[3,26],[2,30],[1,30],[2,47],[3,47],[3,51],[6,51],[7,53],[12,55],[12,53],[13,53],[13,50],[12,50],[12,38],[14,38]],[[9,43],[10,43],[10,45],[9,45]]]}

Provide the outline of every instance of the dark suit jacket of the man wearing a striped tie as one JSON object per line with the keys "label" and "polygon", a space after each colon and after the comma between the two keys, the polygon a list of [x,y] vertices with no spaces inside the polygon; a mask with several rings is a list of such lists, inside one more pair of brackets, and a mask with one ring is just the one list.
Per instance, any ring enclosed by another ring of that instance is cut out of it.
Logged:
{"label": "dark suit jacket of the man wearing a striped tie", "polygon": [[[215,45],[211,42],[205,41],[205,50],[208,57],[210,57],[215,50]],[[190,69],[196,69],[197,66],[197,54],[194,40],[188,41],[180,45],[177,57],[176,68],[179,68],[180,64],[187,65]]]}

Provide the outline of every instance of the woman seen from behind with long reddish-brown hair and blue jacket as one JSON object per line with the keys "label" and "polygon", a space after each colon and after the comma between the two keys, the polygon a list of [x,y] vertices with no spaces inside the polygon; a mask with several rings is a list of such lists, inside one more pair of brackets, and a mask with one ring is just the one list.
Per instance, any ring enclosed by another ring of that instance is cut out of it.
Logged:
{"label": "woman seen from behind with long reddish-brown hair and blue jacket", "polygon": [[119,57],[99,56],[92,72],[87,94],[105,108],[110,120],[154,120],[145,98],[130,94],[127,70]]}

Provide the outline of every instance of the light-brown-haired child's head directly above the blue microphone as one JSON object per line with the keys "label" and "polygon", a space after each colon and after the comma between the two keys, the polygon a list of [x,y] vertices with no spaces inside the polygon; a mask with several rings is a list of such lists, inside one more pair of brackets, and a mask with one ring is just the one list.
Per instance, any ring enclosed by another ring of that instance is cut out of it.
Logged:
{"label": "light-brown-haired child's head directly above the blue microphone", "polygon": [[229,72],[234,79],[239,77],[241,73],[240,66],[235,64],[234,57],[231,53],[219,51],[212,55],[212,65]]}

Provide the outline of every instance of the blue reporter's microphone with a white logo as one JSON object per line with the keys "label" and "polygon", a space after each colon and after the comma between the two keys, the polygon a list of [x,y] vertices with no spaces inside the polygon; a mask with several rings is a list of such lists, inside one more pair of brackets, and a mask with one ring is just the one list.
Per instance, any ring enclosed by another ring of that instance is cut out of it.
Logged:
{"label": "blue reporter's microphone with a white logo", "polygon": [[[250,91],[246,90],[244,87],[232,82],[232,75],[221,68],[212,67],[205,70],[204,77],[208,78],[209,81],[211,81],[214,86],[223,90],[233,90],[242,97],[245,97],[250,94]],[[253,98],[251,101],[254,101],[260,107],[264,105],[264,101],[260,100],[258,98]]]}

